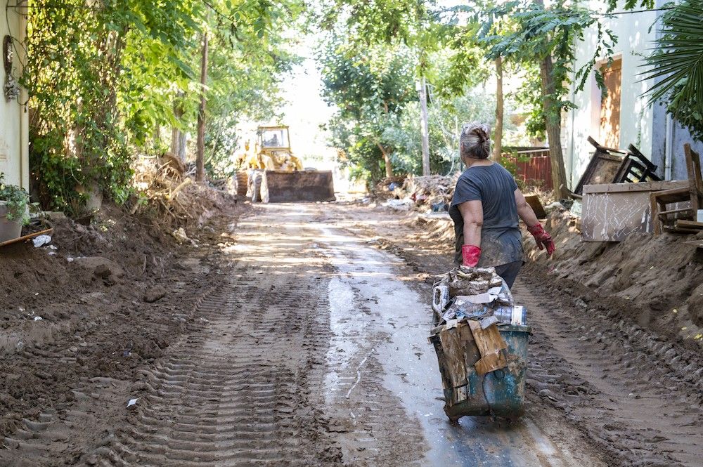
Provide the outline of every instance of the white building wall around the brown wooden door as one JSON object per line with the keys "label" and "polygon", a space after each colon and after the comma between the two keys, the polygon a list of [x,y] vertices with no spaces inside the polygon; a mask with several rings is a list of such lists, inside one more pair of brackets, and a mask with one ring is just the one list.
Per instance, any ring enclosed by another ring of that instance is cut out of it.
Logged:
{"label": "white building wall around the brown wooden door", "polygon": [[[588,5],[596,11],[605,11],[605,4],[601,1],[591,1]],[[621,8],[617,11],[621,11]],[[622,59],[620,146],[627,147],[632,143],[647,156],[652,154],[654,109],[646,105],[647,99],[641,95],[651,86],[651,81],[640,81],[638,73],[642,70],[639,65],[643,55],[656,37],[654,28],[650,31],[650,26],[656,19],[657,13],[650,11],[616,15],[602,20],[602,24],[618,37],[614,58]],[[576,45],[574,70],[579,70],[593,57],[593,51],[598,46],[597,38],[595,27],[591,27],[584,34],[583,41]],[[565,165],[571,188],[579,182],[593,154],[593,146],[587,141],[588,136],[599,140],[600,98],[600,89],[593,73],[583,91],[576,91],[575,85],[572,85],[571,100],[577,108],[567,112],[565,142]]]}

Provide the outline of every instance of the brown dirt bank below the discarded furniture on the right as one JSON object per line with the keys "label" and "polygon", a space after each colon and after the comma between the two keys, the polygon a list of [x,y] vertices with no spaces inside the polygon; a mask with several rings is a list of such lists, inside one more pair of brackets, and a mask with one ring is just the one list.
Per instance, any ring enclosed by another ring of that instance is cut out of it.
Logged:
{"label": "brown dirt bank below the discarded furniture on the right", "polygon": [[528,264],[534,261],[530,272],[569,281],[586,296],[607,296],[640,326],[703,343],[703,251],[684,243],[695,236],[636,234],[617,243],[581,242],[568,213],[553,213],[545,228],[557,251],[548,259],[526,236]]}

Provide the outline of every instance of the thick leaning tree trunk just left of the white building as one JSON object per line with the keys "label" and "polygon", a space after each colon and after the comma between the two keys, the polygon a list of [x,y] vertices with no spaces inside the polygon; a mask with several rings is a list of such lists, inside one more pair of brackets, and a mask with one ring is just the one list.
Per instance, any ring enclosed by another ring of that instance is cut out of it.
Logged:
{"label": "thick leaning tree trunk just left of the white building", "polygon": [[556,86],[552,55],[547,55],[540,61],[539,71],[542,81],[544,123],[547,129],[549,158],[552,166],[552,186],[558,197],[565,198],[569,196],[569,190],[567,189],[567,176],[562,155],[561,109],[554,101]]}

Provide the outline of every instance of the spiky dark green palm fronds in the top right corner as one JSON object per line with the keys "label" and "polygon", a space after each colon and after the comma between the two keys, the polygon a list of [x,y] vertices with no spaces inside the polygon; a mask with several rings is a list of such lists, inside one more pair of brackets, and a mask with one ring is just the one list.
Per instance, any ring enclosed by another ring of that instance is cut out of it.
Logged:
{"label": "spiky dark green palm fronds in the top right corner", "polygon": [[645,79],[655,79],[650,102],[665,99],[667,111],[703,140],[702,0],[685,0],[662,15],[662,36],[646,58]]}

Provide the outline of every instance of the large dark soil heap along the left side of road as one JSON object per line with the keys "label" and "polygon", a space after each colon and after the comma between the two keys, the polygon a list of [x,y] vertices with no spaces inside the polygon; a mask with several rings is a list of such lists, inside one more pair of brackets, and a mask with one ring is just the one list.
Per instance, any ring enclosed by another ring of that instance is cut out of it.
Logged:
{"label": "large dark soil heap along the left side of road", "polygon": [[206,199],[183,244],[173,223],[104,206],[87,226],[53,216],[47,246],[0,250],[0,438],[67,410],[79,381],[134,379],[197,324],[181,310],[221,282],[221,246],[245,209]]}

